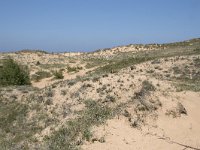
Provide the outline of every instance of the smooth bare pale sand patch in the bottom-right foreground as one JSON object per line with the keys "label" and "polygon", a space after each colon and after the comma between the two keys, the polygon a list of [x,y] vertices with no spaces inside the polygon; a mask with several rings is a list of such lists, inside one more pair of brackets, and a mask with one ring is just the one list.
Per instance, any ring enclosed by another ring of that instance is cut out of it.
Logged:
{"label": "smooth bare pale sand patch in the bottom-right foreground", "polygon": [[[187,116],[172,118],[166,116],[161,109],[156,123],[142,129],[131,127],[127,118],[120,116],[107,121],[106,125],[95,127],[93,129],[94,142],[85,143],[82,148],[85,150],[200,148],[200,117],[198,115],[200,93],[180,93],[179,98],[187,109]],[[99,140],[101,138],[103,138],[102,141]]]}

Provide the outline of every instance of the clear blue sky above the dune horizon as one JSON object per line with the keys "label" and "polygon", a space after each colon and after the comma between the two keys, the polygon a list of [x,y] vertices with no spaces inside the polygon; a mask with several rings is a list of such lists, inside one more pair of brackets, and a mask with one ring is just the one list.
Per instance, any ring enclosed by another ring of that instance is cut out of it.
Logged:
{"label": "clear blue sky above the dune horizon", "polygon": [[200,37],[200,0],[0,0],[0,51],[92,51]]}

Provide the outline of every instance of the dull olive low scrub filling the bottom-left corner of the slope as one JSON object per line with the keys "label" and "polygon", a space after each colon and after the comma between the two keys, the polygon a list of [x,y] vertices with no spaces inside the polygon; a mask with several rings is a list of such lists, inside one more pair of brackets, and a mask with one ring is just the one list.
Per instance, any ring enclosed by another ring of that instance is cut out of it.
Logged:
{"label": "dull olive low scrub filling the bottom-left corner of the slope", "polygon": [[28,120],[29,112],[28,104],[0,97],[0,149],[29,148],[33,135],[43,128],[38,122],[45,121],[40,113],[33,120]]}

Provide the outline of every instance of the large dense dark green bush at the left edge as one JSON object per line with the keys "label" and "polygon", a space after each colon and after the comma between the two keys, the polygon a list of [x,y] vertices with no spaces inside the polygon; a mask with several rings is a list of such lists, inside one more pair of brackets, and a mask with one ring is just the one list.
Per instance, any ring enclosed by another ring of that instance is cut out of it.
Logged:
{"label": "large dense dark green bush at the left edge", "polygon": [[3,61],[0,68],[0,85],[27,85],[30,84],[29,72],[27,67],[18,65],[14,60]]}

